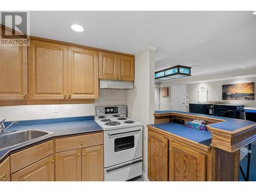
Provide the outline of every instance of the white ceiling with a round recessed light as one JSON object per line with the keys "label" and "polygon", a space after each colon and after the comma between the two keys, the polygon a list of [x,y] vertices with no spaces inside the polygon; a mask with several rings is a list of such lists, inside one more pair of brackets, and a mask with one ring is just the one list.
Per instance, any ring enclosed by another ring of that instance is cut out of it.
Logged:
{"label": "white ceiling with a round recessed light", "polygon": [[[85,31],[72,31],[72,23]],[[249,11],[32,11],[30,34],[130,54],[154,46],[156,71],[256,67],[256,15]]]}

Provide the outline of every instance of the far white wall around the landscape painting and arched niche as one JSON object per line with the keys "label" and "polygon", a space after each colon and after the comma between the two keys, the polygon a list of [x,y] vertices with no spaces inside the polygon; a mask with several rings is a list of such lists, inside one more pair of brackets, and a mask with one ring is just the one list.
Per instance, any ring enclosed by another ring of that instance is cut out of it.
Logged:
{"label": "far white wall around the landscape painting and arched niche", "polygon": [[[197,103],[198,102],[198,89],[201,86],[205,86],[208,89],[208,101],[224,101],[222,100],[222,85],[223,84],[234,84],[234,83],[243,83],[243,82],[254,82],[256,86],[256,77],[251,78],[236,78],[229,80],[220,80],[220,81],[211,81],[211,82],[202,82],[202,83],[193,83],[187,84],[187,103]],[[255,90],[255,88],[254,88]],[[230,104],[244,104],[245,106],[256,107],[256,94],[254,95],[254,100],[225,100]]]}

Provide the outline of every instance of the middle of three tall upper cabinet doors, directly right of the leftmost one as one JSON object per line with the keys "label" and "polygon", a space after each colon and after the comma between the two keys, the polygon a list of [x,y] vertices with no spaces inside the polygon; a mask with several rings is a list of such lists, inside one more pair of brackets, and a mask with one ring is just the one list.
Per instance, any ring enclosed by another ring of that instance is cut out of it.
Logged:
{"label": "middle of three tall upper cabinet doors, directly right of the leftmost one", "polygon": [[63,99],[67,95],[67,46],[30,40],[29,99]]}

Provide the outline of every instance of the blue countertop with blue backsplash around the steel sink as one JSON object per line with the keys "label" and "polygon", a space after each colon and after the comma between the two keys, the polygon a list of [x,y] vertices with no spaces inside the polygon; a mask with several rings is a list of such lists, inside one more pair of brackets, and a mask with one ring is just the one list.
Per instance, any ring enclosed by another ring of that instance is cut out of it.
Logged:
{"label": "blue countertop with blue backsplash around the steel sink", "polygon": [[99,124],[93,120],[93,116],[19,121],[16,126],[10,127],[7,131],[11,130],[42,130],[53,132],[54,134],[0,150],[0,163],[11,153],[22,150],[23,148],[26,148],[30,145],[45,142],[47,140],[51,140],[57,137],[65,137],[103,131]]}

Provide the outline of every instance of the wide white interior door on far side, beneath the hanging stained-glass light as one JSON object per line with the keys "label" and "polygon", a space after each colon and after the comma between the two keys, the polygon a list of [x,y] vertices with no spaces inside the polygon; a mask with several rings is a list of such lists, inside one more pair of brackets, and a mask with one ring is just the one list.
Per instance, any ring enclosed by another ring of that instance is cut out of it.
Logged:
{"label": "wide white interior door on far side, beneath the hanging stained-glass light", "polygon": [[174,111],[186,112],[186,85],[172,86],[172,103]]}

